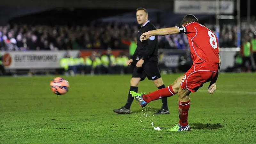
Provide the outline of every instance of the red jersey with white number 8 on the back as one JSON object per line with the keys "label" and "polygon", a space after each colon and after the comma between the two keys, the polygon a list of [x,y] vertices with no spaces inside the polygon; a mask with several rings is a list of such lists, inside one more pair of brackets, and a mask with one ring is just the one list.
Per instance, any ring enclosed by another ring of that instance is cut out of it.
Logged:
{"label": "red jersey with white number 8 on the back", "polygon": [[[183,27],[184,28],[184,27]],[[219,64],[219,46],[216,35],[204,25],[191,22],[185,26],[193,64]]]}

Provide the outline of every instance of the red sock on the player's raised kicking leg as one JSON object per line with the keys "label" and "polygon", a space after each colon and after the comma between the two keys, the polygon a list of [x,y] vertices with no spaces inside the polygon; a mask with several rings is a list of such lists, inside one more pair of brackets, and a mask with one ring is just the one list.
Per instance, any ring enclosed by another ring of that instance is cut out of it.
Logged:
{"label": "red sock on the player's raised kicking leg", "polygon": [[159,89],[155,92],[143,95],[143,100],[149,103],[150,101],[158,100],[164,97],[170,97],[170,96],[173,96],[174,94],[176,93],[173,91],[172,85],[170,85],[166,88]]}

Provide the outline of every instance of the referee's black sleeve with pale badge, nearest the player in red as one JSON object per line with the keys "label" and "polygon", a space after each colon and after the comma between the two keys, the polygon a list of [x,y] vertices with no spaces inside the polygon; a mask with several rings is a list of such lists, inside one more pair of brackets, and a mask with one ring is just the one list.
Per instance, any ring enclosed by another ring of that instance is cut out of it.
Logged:
{"label": "referee's black sleeve with pale badge, nearest the player in red", "polygon": [[156,47],[156,36],[151,36],[148,40],[147,40],[147,46],[146,48],[146,52],[142,55],[142,59],[143,60],[147,60],[148,56],[152,55],[155,47]]}

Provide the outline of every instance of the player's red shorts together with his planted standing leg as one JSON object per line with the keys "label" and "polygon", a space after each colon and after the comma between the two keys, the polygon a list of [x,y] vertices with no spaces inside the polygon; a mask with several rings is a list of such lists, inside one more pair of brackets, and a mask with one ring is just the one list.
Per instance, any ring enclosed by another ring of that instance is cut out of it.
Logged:
{"label": "player's red shorts together with his planted standing leg", "polygon": [[213,64],[196,64],[185,73],[178,91],[179,95],[179,124],[175,125],[168,131],[180,132],[189,131],[188,110],[190,107],[190,92],[196,92],[203,84],[216,78],[218,66]]}

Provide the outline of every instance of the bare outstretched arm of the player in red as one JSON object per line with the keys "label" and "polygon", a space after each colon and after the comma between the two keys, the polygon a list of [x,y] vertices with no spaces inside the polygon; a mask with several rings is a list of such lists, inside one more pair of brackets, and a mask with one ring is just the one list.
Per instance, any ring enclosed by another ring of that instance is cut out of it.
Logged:
{"label": "bare outstretched arm of the player in red", "polygon": [[156,30],[150,30],[146,33],[143,33],[140,36],[140,41],[145,41],[147,40],[150,36],[165,36],[165,35],[172,35],[172,34],[179,34],[180,29],[178,27],[173,27],[173,28],[160,28]]}

